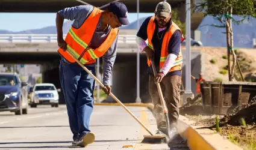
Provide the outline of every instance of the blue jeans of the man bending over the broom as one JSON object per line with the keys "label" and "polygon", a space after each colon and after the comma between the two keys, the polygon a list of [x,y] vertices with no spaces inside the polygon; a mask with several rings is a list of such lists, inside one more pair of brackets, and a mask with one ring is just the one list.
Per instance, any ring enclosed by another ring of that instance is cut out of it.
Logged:
{"label": "blue jeans of the man bending over the broom", "polygon": [[[95,65],[86,66],[95,74]],[[90,132],[89,121],[93,111],[95,80],[79,64],[60,61],[60,82],[69,116],[73,140]]]}

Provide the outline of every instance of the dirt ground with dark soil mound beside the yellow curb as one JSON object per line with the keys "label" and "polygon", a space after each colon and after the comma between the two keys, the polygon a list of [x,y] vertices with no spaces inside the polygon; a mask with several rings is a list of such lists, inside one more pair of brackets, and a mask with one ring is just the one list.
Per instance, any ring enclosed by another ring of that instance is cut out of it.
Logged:
{"label": "dirt ground with dark soil mound beside the yellow curb", "polygon": [[[256,97],[254,98],[256,100]],[[193,125],[217,131],[216,115],[208,114],[202,106],[181,109],[181,114],[196,121]],[[243,121],[244,120],[244,123]],[[246,150],[256,149],[256,102],[236,107],[233,113],[219,116],[220,135]]]}

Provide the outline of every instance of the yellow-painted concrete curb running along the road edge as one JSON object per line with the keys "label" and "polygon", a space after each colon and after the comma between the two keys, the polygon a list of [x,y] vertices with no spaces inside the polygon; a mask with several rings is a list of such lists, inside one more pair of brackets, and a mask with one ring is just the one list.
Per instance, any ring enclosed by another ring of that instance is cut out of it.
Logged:
{"label": "yellow-painted concrete curb running along the road edge", "polygon": [[[147,107],[149,110],[154,109],[152,103],[123,103],[125,106]],[[95,103],[98,106],[120,106],[118,103]],[[187,144],[191,150],[243,150],[239,146],[233,144],[228,139],[224,139],[219,133],[213,130],[199,126],[192,126],[195,121],[189,121],[185,116],[180,115],[179,124],[186,126],[186,129],[180,132],[181,137],[187,140]]]}

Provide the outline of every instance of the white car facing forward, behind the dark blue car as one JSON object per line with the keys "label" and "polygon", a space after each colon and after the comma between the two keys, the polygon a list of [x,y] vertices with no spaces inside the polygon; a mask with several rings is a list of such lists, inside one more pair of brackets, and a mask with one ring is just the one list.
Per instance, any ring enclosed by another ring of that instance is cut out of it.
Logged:
{"label": "white car facing forward, behind the dark blue car", "polygon": [[38,104],[49,104],[52,107],[58,107],[58,91],[54,84],[38,83],[31,92],[31,107],[37,107]]}

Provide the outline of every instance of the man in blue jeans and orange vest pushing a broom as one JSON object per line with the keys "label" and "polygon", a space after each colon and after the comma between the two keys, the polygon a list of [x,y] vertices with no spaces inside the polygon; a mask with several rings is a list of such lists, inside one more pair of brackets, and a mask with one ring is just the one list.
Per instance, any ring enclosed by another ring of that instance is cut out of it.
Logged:
{"label": "man in blue jeans and orange vest pushing a broom", "polygon": [[[56,17],[60,82],[73,133],[72,146],[87,146],[95,134],[89,130],[93,110],[95,80],[66,52],[68,50],[95,75],[95,62],[103,58],[104,92],[111,92],[111,70],[116,59],[118,27],[128,25],[128,10],[121,2],[111,2],[102,11],[92,5],[80,5],[58,11]],[[73,20],[65,40],[63,20]]]}

